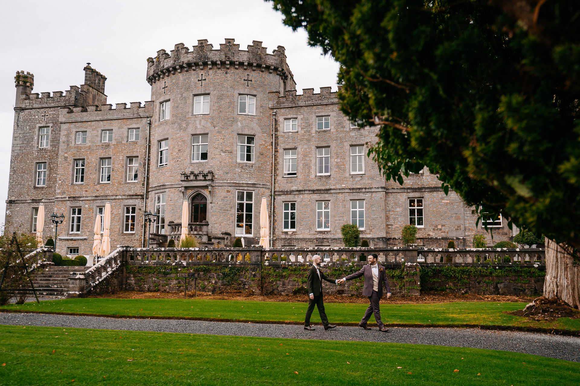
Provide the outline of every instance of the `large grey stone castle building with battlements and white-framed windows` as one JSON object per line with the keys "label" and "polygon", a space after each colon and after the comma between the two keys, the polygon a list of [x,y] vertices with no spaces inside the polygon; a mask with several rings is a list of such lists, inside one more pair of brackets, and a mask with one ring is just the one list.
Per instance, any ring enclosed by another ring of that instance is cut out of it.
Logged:
{"label": "large grey stone castle building with battlements and white-framed windows", "polygon": [[[152,245],[179,238],[184,200],[187,229],[205,245],[258,244],[262,197],[276,247],[343,245],[345,223],[371,247],[401,245],[409,223],[431,247],[470,247],[485,233],[427,168],[403,186],[385,181],[367,157],[378,128],[351,122],[331,87],[297,94],[282,46],[269,54],[262,42],[240,50],[226,39],[219,49],[200,40],[160,50],[147,59],[144,105],[113,108],[107,78],[90,64],[84,71],[84,84],[52,95],[32,93],[31,73],[15,78],[6,225],[35,231],[44,203],[46,239],[50,214],[63,213],[59,253],[90,255],[107,202],[113,247],[147,244],[146,211],[160,214]],[[506,221],[494,223],[494,244],[510,234]]]}

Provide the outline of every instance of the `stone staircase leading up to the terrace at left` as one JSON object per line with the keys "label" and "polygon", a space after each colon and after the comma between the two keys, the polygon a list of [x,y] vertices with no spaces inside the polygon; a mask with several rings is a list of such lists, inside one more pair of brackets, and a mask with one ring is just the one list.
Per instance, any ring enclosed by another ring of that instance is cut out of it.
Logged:
{"label": "stone staircase leading up to the terrace at left", "polygon": [[[31,274],[32,284],[39,296],[58,296],[67,297],[69,291],[68,277],[73,272],[84,273],[90,267],[49,266],[41,271]],[[27,283],[28,284],[28,283]],[[30,284],[27,285],[28,289]],[[30,292],[30,296],[34,296]]]}

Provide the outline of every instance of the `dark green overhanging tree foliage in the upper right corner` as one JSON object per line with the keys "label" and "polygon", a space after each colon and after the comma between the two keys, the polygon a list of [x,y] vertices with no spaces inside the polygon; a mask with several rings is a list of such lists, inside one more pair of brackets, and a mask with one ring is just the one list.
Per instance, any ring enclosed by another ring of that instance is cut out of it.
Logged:
{"label": "dark green overhanging tree foliage in the upper right corner", "polygon": [[387,179],[426,165],[478,221],[580,247],[579,1],[273,2],[341,64],[340,108],[380,125]]}

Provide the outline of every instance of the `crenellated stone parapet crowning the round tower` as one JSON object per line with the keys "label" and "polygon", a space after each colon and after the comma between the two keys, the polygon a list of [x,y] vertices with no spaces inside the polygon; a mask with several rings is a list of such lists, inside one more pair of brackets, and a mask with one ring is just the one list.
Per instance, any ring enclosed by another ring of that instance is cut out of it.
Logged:
{"label": "crenellated stone parapet crowning the round tower", "polygon": [[294,83],[292,72],[286,63],[285,48],[278,46],[271,54],[267,53],[262,42],[253,41],[248,45],[248,50],[240,50],[239,44],[234,44],[234,39],[225,39],[218,50],[206,39],[198,40],[197,46],[191,50],[183,43],[177,43],[171,54],[165,50],[159,50],[157,56],[148,58],[147,82],[153,84],[175,73],[196,71],[199,69],[252,69],[276,73],[285,80],[291,79]]}

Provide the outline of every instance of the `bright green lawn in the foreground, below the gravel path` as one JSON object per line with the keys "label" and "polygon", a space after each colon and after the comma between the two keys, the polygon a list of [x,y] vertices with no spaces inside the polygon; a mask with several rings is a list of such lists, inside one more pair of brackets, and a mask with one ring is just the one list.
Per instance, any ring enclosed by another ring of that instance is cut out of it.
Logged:
{"label": "bright green lawn in the foreground, below the gravel path", "polygon": [[0,336],[0,384],[17,386],[543,386],[577,384],[580,372],[560,359],[419,344],[35,326],[0,326]]}

